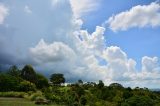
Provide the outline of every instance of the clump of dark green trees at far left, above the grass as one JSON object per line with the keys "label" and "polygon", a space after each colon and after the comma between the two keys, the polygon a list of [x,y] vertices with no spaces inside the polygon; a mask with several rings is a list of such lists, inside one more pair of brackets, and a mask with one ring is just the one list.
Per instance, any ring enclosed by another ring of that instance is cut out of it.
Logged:
{"label": "clump of dark green trees at far left, above the grass", "polygon": [[7,72],[0,73],[0,91],[36,91],[48,87],[48,79],[36,73],[31,65],[22,70],[11,66]]}

